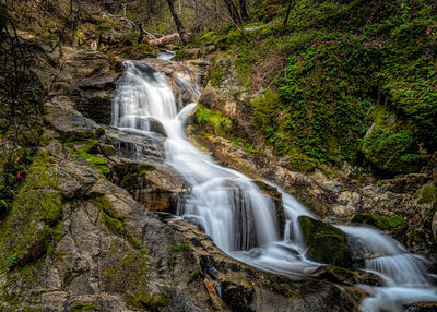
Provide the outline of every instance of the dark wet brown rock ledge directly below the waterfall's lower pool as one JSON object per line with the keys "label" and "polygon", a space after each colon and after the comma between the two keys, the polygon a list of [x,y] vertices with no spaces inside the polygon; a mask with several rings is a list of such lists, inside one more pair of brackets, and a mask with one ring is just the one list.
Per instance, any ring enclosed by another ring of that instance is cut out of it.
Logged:
{"label": "dark wet brown rock ledge directly below the waterfall's lower pool", "polygon": [[362,290],[260,272],[225,255],[196,226],[182,221],[169,225],[199,256],[203,283],[220,311],[358,311],[365,295]]}

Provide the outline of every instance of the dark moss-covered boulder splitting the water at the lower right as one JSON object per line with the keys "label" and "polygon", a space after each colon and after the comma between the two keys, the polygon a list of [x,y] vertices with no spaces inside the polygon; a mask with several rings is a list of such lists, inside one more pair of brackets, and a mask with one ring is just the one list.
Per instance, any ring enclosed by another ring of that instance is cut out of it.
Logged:
{"label": "dark moss-covered boulder splitting the water at the lower right", "polygon": [[346,268],[352,266],[352,253],[342,230],[307,216],[298,217],[298,221],[310,260]]}

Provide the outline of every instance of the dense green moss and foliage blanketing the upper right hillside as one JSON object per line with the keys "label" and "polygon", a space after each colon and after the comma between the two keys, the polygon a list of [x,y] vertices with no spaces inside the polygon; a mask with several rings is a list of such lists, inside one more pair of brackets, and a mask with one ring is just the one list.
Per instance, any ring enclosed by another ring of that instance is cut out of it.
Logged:
{"label": "dense green moss and foliage blanketing the upper right hillside", "polygon": [[[436,3],[296,1],[283,28],[286,5],[276,2],[257,4],[252,16],[267,24],[247,32],[248,40],[232,27],[200,38],[224,43],[236,63],[248,64],[252,89],[274,91],[253,106],[265,140],[291,160],[307,157],[292,167],[351,161],[417,171],[437,146]],[[381,109],[394,116],[390,127],[371,113]]]}

